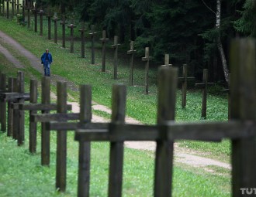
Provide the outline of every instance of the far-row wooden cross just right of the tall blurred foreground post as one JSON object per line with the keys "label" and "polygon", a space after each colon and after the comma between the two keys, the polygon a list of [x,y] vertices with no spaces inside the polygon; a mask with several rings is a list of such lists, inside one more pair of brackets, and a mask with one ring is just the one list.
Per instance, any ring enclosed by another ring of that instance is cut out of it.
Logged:
{"label": "far-row wooden cross just right of the tall blurred foreground post", "polygon": [[182,77],[178,77],[178,81],[182,82],[182,108],[187,104],[187,82],[188,80],[195,80],[195,77],[188,77],[188,66],[183,64]]}

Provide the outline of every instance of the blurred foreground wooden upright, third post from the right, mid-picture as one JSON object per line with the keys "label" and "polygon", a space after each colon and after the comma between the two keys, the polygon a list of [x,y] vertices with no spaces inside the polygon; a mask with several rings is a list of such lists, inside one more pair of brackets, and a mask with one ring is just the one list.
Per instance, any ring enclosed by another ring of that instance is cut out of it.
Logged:
{"label": "blurred foreground wooden upright, third post from the right, mid-picture", "polygon": [[[112,115],[111,123],[124,124],[126,114],[126,87],[113,85],[112,87]],[[122,195],[123,184],[123,141],[110,143],[109,161],[109,197]]]}

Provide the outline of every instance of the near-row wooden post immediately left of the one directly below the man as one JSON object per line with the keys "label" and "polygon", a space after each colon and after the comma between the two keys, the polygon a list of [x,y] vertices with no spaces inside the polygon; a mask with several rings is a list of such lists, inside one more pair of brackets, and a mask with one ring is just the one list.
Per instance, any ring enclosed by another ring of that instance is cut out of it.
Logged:
{"label": "near-row wooden post immediately left of the one directly below the man", "polygon": [[[30,80],[30,104],[37,103],[37,80]],[[31,114],[37,114],[36,110],[29,110],[29,117]],[[29,121],[29,152],[36,153],[36,122]]]}

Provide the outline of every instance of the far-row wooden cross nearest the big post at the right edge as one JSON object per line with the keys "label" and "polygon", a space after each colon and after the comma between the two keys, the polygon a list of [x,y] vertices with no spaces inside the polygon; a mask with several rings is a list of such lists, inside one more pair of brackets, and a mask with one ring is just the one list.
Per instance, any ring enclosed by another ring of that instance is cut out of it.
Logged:
{"label": "far-row wooden cross nearest the big post at the right edge", "polygon": [[207,86],[215,83],[208,83],[208,70],[204,69],[202,74],[202,83],[195,83],[195,87],[202,88],[202,115],[206,119],[207,108]]}

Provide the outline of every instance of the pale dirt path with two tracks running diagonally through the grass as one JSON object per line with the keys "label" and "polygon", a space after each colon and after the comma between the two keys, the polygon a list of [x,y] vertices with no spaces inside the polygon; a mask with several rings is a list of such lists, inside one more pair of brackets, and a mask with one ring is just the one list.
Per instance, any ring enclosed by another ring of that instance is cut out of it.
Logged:
{"label": "pale dirt path with two tracks running diagonally through the grass", "polygon": [[[34,56],[32,53],[26,50],[23,46],[21,46],[18,42],[16,42],[14,39],[7,36],[5,33],[1,31],[0,31],[0,39],[2,39],[2,42],[5,42],[10,46],[12,46],[13,48],[17,49],[22,56],[25,56],[27,59],[29,59],[31,66],[33,66],[39,73],[42,73],[43,75],[43,68],[42,68],[42,65],[40,64],[40,59],[38,57]],[[0,45],[0,53],[6,56],[6,58],[9,59],[9,61],[12,62],[18,68],[22,66],[22,64],[19,63],[19,60],[16,59],[14,56],[12,56],[12,54],[9,53],[9,51],[4,47],[2,47],[1,45]],[[53,74],[51,75],[50,78],[51,78],[51,81],[55,83],[57,81],[65,81],[67,82],[68,88],[70,88],[71,90],[78,91],[78,87],[75,86],[74,83],[72,83],[71,81],[65,80],[61,76],[57,76]],[[52,96],[56,97],[54,94]],[[69,102],[69,104],[72,104],[72,109],[74,112],[79,112],[78,103]],[[102,110],[108,114],[111,114],[111,110],[108,107],[105,107],[99,104],[93,103],[92,108],[94,110]],[[106,120],[105,118],[96,116],[94,114],[92,115],[92,121],[93,122],[109,122],[109,120]],[[130,118],[130,117],[126,117],[126,123],[141,124],[139,121],[134,120],[133,118]],[[125,146],[127,148],[135,148],[135,149],[144,150],[144,151],[155,151],[155,148],[156,148],[156,144],[153,141],[126,141]],[[177,143],[175,143],[175,162],[183,163],[185,165],[195,166],[197,168],[198,167],[205,168],[206,171],[209,171],[209,172],[213,172],[212,169],[208,168],[210,166],[226,168],[228,170],[230,170],[231,168],[230,164],[216,161],[210,158],[196,156],[196,154],[193,153],[188,148],[178,147]]]}

